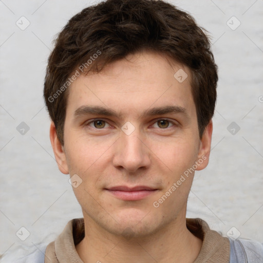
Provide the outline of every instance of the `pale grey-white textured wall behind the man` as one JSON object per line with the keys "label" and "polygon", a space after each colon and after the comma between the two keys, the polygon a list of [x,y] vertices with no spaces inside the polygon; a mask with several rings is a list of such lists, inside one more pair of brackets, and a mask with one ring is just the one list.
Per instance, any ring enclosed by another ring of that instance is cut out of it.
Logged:
{"label": "pale grey-white textured wall behind the man", "polygon": [[[0,1],[0,254],[23,254],[82,217],[69,176],[54,161],[42,90],[54,35],[93,3]],[[219,67],[210,164],[196,172],[187,216],[205,219],[223,235],[240,232],[263,242],[263,1],[170,3],[210,32]],[[16,25],[21,16],[30,22],[25,30]],[[241,23],[235,30],[232,16]],[[21,122],[29,127],[24,135],[16,129]],[[229,127],[232,122],[238,126]],[[30,232],[25,241],[16,236],[21,227]]]}

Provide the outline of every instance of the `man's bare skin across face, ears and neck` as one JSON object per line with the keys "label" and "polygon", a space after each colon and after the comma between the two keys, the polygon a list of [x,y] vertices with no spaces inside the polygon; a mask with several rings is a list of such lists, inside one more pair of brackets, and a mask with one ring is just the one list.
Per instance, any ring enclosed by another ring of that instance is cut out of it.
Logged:
{"label": "man's bare skin across face, ears and neck", "polygon": [[[188,75],[182,83],[174,78],[179,69]],[[205,156],[196,168],[202,170],[209,161],[212,121],[200,139],[190,80],[187,67],[144,51],[72,83],[64,145],[53,123],[50,139],[60,171],[82,179],[73,191],[85,222],[85,238],[76,246],[84,262],[188,263],[198,256],[202,241],[185,225],[194,173],[158,208],[153,206],[187,168]],[[83,106],[111,109],[117,116],[83,114]],[[166,106],[184,112],[143,115]],[[105,126],[98,128],[91,122],[95,118],[102,120],[99,127]],[[160,125],[158,120],[167,121]],[[134,127],[130,135],[121,129],[126,122]],[[105,190],[116,185],[157,190],[142,200],[127,201]]]}

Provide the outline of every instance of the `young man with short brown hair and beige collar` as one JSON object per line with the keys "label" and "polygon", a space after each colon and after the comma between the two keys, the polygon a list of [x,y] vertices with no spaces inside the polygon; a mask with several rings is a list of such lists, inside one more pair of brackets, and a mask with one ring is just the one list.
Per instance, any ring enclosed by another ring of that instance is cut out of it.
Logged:
{"label": "young man with short brown hair and beige collar", "polygon": [[209,162],[217,80],[208,37],[168,3],[108,0],[73,16],[44,97],[83,219],[27,262],[263,262],[260,243],[185,218]]}

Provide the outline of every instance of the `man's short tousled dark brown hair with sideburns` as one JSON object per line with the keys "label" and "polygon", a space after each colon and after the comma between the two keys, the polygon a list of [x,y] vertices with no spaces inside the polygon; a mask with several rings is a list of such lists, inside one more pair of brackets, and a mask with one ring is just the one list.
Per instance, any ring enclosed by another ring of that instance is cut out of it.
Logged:
{"label": "man's short tousled dark brown hair with sideburns", "polygon": [[74,15],[55,40],[44,85],[60,142],[64,144],[67,87],[77,73],[100,72],[105,65],[142,50],[165,54],[190,68],[201,138],[214,115],[218,81],[204,32],[190,14],[160,0],[107,0]]}

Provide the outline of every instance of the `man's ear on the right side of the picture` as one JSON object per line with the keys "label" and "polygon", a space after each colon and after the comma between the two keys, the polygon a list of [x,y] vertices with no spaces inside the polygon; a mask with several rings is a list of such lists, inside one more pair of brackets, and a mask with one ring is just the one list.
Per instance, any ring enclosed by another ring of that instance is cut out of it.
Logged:
{"label": "man's ear on the right side of the picture", "polygon": [[213,132],[213,122],[212,120],[205,127],[202,139],[200,141],[200,147],[198,152],[198,167],[197,171],[203,170],[209,163],[209,156],[211,151],[211,140],[212,140],[212,132]]}

